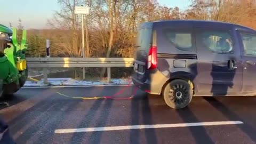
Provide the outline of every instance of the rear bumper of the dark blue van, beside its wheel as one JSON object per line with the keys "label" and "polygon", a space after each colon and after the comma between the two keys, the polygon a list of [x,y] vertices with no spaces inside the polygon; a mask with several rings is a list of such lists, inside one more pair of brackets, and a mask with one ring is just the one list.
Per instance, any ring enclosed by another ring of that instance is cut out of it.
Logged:
{"label": "rear bumper of the dark blue van, beside its wheel", "polygon": [[[157,72],[156,72],[157,71]],[[140,82],[137,78],[137,74],[132,75],[132,82],[135,86],[138,86],[139,89],[145,91],[150,94],[161,94],[162,87],[167,82],[167,78],[163,76],[158,70],[156,70],[154,74],[149,74],[150,79],[147,78],[145,82]]]}

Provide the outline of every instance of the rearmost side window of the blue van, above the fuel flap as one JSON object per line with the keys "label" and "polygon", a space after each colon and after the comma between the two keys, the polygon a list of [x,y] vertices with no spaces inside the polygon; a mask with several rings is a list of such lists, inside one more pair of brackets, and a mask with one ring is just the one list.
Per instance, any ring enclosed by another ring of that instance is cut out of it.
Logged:
{"label": "rearmost side window of the blue van, above the fuel flap", "polygon": [[166,30],[165,36],[175,47],[183,51],[194,51],[192,34],[188,31]]}

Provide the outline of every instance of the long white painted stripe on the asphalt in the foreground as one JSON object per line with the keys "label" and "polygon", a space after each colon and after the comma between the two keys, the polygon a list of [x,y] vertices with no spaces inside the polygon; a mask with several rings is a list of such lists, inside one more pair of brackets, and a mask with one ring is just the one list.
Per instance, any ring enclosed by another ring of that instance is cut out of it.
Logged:
{"label": "long white painted stripe on the asphalt in the foreground", "polygon": [[243,122],[220,121],[220,122],[200,122],[200,123],[88,127],[88,128],[80,128],[80,129],[57,129],[54,132],[55,133],[76,133],[76,132],[95,132],[95,131],[119,131],[119,130],[132,130],[132,129],[157,129],[157,128],[170,128],[170,127],[188,127],[188,126],[231,125],[231,124],[243,124]]}

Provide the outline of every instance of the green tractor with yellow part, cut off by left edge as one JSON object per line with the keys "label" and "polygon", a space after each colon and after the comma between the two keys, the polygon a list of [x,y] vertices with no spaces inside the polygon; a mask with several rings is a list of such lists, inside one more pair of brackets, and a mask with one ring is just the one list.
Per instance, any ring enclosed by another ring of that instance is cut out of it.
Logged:
{"label": "green tractor with yellow part, cut off by left edge", "polygon": [[25,52],[27,31],[18,44],[17,29],[0,24],[0,97],[12,95],[26,82],[28,68]]}

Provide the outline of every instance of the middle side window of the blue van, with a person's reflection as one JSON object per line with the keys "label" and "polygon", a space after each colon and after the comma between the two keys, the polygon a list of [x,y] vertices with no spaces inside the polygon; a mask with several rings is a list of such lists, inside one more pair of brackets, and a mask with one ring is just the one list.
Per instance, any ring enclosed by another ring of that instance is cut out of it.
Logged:
{"label": "middle side window of the blue van, with a person's reflection", "polygon": [[199,42],[214,53],[233,53],[231,34],[223,30],[202,30],[197,33]]}

